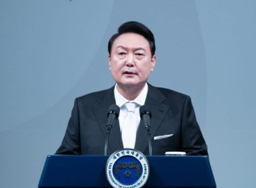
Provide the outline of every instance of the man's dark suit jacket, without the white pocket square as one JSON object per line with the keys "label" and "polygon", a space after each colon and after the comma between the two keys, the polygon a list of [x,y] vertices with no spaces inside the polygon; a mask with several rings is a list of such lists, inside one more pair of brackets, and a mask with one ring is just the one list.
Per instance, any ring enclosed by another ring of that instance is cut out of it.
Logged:
{"label": "man's dark suit jacket, without the white pocket square", "polygon": [[[145,105],[151,108],[152,153],[185,151],[207,154],[207,146],[195,118],[191,99],[170,89],[148,85]],[[114,87],[75,99],[71,118],[56,154],[104,154],[108,107],[115,103]],[[154,136],[173,134],[153,140]],[[140,122],[135,149],[148,154],[146,130]],[[108,142],[108,154],[123,149],[119,121],[115,122]]]}

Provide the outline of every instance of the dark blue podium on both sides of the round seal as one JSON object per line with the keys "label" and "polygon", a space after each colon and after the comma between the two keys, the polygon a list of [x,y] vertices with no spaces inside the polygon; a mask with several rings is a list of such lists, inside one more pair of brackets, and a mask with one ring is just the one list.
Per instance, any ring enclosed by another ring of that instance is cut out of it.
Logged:
{"label": "dark blue podium on both sides of the round seal", "polygon": [[[144,187],[216,187],[208,156],[146,156],[150,176]],[[38,187],[110,187],[108,156],[49,155]]]}

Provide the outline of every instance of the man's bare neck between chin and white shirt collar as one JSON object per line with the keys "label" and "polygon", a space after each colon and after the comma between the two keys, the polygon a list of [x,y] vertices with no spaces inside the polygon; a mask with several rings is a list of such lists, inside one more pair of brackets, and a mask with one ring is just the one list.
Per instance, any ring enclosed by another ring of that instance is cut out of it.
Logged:
{"label": "man's bare neck between chin and white shirt collar", "polygon": [[119,91],[119,93],[123,95],[125,99],[133,101],[137,96],[139,96],[145,84],[146,83],[142,83],[141,85],[126,86],[117,83],[117,91]]}

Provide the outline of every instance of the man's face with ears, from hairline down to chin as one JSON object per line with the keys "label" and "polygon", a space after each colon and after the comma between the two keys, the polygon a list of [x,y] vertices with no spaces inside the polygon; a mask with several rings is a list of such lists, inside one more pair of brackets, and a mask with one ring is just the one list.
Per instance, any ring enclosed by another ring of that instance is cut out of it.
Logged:
{"label": "man's face with ears, from hairline down to chin", "polygon": [[144,85],[150,72],[154,71],[156,56],[152,57],[146,38],[139,34],[126,33],[113,42],[108,64],[118,85]]}

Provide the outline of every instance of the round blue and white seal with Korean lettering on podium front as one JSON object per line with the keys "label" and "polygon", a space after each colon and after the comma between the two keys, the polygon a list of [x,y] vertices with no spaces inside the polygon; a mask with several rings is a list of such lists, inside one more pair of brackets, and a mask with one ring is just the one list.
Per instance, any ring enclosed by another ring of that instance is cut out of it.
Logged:
{"label": "round blue and white seal with Korean lettering on podium front", "polygon": [[106,162],[106,178],[115,188],[142,187],[149,175],[148,160],[137,150],[117,150]]}

